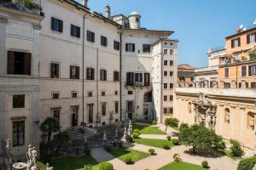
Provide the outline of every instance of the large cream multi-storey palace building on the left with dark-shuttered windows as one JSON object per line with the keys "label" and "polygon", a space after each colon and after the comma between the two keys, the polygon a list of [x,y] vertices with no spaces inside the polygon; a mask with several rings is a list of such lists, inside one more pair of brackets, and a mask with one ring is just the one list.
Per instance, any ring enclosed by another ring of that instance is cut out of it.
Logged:
{"label": "large cream multi-storey palace building on the left with dark-shuttered windows", "polygon": [[38,148],[38,127],[48,116],[65,130],[172,115],[173,31],[141,28],[135,11],[112,16],[106,6],[103,16],[86,0],[41,5],[44,13],[0,8],[0,139],[11,139],[15,161],[28,144]]}

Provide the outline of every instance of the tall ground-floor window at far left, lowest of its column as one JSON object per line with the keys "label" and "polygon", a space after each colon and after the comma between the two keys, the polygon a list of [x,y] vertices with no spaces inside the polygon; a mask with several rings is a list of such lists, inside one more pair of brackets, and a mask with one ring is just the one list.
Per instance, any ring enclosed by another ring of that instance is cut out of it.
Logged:
{"label": "tall ground-floor window at far left, lowest of its column", "polygon": [[13,146],[25,144],[25,121],[13,122]]}

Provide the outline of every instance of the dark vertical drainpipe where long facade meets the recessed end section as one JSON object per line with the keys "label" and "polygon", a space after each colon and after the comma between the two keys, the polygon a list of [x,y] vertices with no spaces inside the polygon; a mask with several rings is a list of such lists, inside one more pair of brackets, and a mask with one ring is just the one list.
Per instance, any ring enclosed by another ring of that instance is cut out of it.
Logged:
{"label": "dark vertical drainpipe where long facade meets the recessed end section", "polygon": [[122,38],[123,30],[119,29],[119,97],[120,97],[120,121],[122,120]]}

